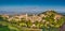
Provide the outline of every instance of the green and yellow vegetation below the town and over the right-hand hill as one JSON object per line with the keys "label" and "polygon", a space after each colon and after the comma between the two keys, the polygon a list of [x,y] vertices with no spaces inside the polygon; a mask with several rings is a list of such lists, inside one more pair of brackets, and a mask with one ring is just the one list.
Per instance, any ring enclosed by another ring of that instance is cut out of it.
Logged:
{"label": "green and yellow vegetation below the town and over the right-hand hill", "polygon": [[[2,15],[0,15],[0,27],[3,26],[4,28],[6,28],[4,29],[6,31],[38,31],[41,29],[43,31],[60,31],[58,28],[65,22],[64,16],[57,16],[56,18],[54,18],[55,15],[58,15],[54,11],[47,11],[44,13],[41,13],[40,15],[46,16],[41,17],[42,19],[40,21],[35,20],[35,22],[32,22],[31,20],[26,20],[26,18],[22,18],[18,21],[14,18],[8,20],[8,17],[2,17]],[[4,30],[2,30],[2,27],[0,28],[0,31]]]}

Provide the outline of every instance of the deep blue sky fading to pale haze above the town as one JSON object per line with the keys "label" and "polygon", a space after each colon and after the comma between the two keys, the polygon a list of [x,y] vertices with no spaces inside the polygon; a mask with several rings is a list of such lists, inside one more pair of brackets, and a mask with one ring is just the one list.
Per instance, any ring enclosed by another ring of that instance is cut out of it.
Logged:
{"label": "deep blue sky fading to pale haze above the town", "polygon": [[0,0],[0,11],[41,13],[48,10],[65,13],[65,0]]}

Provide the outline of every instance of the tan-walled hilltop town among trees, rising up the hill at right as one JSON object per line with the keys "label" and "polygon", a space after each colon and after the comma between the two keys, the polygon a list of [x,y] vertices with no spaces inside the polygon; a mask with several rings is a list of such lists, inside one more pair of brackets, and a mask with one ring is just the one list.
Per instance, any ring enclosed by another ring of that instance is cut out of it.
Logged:
{"label": "tan-walled hilltop town among trees, rising up the hill at right", "polygon": [[[0,15],[0,24],[1,21],[6,21],[8,24],[11,24],[11,27],[14,26],[16,28],[34,28],[34,29],[42,29],[43,27],[50,28],[60,28],[64,24],[64,16],[54,12],[54,11],[47,11],[43,13],[40,13],[38,15],[32,14],[22,14],[22,15]],[[3,25],[3,26],[10,26],[10,25]],[[10,27],[9,27],[10,28]],[[12,28],[10,28],[12,29]]]}

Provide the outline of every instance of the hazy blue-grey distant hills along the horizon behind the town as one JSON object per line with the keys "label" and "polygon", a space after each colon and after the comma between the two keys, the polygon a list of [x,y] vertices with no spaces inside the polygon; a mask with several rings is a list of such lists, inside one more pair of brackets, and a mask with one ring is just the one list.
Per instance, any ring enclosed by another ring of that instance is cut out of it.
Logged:
{"label": "hazy blue-grey distant hills along the horizon behind the town", "polygon": [[[48,11],[46,11],[46,12],[48,12]],[[43,14],[43,13],[46,13],[46,12],[42,12],[42,13],[27,13],[27,14]],[[51,11],[51,12],[55,12],[55,11]],[[24,13],[24,12],[20,12],[20,13],[16,13],[16,12],[11,12],[11,11],[0,11],[0,15],[1,14],[9,14],[9,15],[14,15],[14,14],[26,14],[26,13]],[[58,13],[58,14],[62,14],[62,15],[65,15],[65,13]]]}

